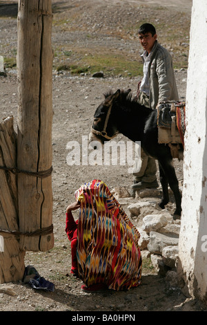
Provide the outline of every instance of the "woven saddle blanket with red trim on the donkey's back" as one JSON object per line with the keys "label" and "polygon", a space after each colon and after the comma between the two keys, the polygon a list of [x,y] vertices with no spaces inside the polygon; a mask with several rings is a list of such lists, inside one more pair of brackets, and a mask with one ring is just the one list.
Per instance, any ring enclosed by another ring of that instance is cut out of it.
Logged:
{"label": "woven saddle blanket with red trim on the donkey's back", "polygon": [[182,143],[186,130],[186,104],[184,102],[160,102],[157,105],[159,143]]}

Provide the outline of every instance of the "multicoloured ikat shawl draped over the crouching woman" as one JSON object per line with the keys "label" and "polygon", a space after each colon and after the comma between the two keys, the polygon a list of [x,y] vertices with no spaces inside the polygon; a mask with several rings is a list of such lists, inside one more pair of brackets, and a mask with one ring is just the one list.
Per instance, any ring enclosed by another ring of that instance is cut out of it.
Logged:
{"label": "multicoloured ikat shawl draped over the crouching woman", "polygon": [[81,186],[77,230],[79,277],[86,286],[106,284],[109,289],[139,286],[141,252],[139,232],[101,180]]}

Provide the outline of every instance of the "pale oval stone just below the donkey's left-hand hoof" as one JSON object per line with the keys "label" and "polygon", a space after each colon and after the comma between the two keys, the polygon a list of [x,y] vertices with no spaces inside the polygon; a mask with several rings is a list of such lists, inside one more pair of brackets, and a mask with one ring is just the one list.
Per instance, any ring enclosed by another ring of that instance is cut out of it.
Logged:
{"label": "pale oval stone just below the donkey's left-hand hoof", "polygon": [[143,230],[145,232],[157,231],[167,224],[168,220],[163,214],[148,214],[143,218]]}

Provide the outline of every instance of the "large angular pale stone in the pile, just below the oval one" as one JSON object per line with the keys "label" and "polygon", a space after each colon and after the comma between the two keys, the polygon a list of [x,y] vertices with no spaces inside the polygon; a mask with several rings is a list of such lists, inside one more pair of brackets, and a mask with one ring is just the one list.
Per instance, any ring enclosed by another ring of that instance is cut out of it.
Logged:
{"label": "large angular pale stone in the pile, just below the oval one", "polygon": [[176,234],[161,234],[160,232],[150,232],[148,250],[153,254],[162,254],[164,247],[178,245],[179,236]]}

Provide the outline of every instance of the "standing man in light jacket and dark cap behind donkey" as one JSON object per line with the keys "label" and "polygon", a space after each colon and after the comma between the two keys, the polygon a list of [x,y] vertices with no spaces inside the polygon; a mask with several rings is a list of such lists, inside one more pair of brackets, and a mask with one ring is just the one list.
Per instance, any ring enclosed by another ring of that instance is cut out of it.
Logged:
{"label": "standing man in light jacket and dark cap behind donkey", "polygon": [[[155,27],[151,24],[143,24],[138,34],[140,44],[144,48],[144,53],[141,55],[144,77],[138,85],[137,101],[141,105],[156,109],[159,102],[179,100],[172,57],[168,50],[158,43]],[[141,169],[137,171],[136,158],[138,156],[135,153],[132,192],[136,189],[157,188],[159,185],[155,159],[141,149]]]}

